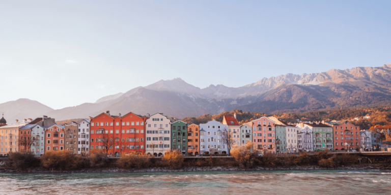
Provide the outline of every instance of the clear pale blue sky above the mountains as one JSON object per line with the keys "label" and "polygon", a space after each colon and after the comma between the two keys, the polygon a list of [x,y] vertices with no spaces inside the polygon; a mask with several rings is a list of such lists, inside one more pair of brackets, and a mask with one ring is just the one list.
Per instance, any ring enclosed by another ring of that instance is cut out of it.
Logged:
{"label": "clear pale blue sky above the mountains", "polygon": [[391,63],[391,1],[0,1],[0,103]]}

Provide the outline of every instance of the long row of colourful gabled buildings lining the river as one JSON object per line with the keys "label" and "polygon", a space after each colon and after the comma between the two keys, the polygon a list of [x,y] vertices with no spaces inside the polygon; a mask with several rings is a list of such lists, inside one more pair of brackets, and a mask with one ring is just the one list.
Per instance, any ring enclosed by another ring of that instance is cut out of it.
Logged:
{"label": "long row of colourful gabled buildings lining the river", "polygon": [[104,150],[112,156],[130,153],[160,156],[167,150],[180,150],[186,155],[227,154],[229,145],[224,133],[229,134],[231,147],[253,142],[254,149],[261,153],[348,150],[358,149],[364,143],[359,126],[347,120],[291,124],[274,116],[264,116],[240,124],[236,114],[225,115],[222,122],[187,124],[173,121],[162,113],[111,115],[106,111],[90,120],[65,125],[58,125],[47,116],[12,125],[5,125],[3,117],[2,124],[1,155],[12,151],[32,151],[41,155],[55,150],[75,154]]}

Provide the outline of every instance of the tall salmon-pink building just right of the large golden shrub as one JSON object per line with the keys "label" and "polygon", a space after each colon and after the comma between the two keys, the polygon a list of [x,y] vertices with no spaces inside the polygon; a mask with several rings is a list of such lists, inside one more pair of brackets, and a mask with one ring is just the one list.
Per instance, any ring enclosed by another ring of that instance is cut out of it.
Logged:
{"label": "tall salmon-pink building just right of the large golden shrub", "polygon": [[275,122],[268,117],[252,120],[253,141],[256,149],[275,153]]}

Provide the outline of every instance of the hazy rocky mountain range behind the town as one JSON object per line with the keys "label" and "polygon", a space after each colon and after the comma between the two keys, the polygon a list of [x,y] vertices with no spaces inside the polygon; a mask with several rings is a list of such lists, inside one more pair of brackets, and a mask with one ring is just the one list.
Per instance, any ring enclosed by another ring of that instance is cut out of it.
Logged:
{"label": "hazy rocky mountain range behind the town", "polygon": [[372,107],[391,104],[391,64],[381,67],[331,69],[313,74],[263,78],[242,87],[195,87],[180,78],[160,80],[95,103],[53,110],[28,99],[0,104],[11,120],[47,115],[56,120],[112,114],[157,112],[177,118],[240,109],[250,112],[305,112],[320,109]]}

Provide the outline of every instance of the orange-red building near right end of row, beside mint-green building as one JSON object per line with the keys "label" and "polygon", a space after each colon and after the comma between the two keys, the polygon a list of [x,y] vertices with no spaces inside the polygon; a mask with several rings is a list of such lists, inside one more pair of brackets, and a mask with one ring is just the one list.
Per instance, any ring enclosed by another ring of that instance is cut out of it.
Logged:
{"label": "orange-red building near right end of row, beside mint-green building", "polygon": [[334,150],[360,148],[360,127],[344,121],[331,121],[325,124],[332,126],[334,133]]}

